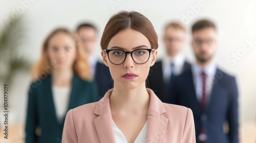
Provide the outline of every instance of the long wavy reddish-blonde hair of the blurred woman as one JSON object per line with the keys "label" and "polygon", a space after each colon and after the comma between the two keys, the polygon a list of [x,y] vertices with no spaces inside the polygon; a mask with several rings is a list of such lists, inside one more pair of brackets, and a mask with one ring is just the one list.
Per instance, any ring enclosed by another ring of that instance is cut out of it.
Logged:
{"label": "long wavy reddish-blonde hair of the blurred woman", "polygon": [[82,45],[81,45],[81,40],[79,36],[72,33],[66,28],[58,28],[50,33],[50,35],[46,38],[44,44],[42,45],[41,58],[36,62],[36,64],[31,70],[31,76],[33,81],[44,79],[52,73],[53,67],[50,63],[47,50],[48,50],[48,44],[50,39],[58,33],[68,34],[75,41],[75,44],[76,44],[75,47],[77,49],[76,50],[77,52],[76,52],[76,60],[73,64],[74,73],[83,80],[91,80],[92,78],[90,75],[89,64],[87,62],[87,57],[84,56],[82,52]]}

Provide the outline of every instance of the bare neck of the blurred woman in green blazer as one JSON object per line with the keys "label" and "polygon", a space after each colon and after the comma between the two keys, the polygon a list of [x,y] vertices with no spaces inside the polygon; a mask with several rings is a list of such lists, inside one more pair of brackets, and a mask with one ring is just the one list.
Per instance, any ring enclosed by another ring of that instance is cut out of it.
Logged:
{"label": "bare neck of the blurred woman in green blazer", "polygon": [[73,79],[74,71],[70,69],[54,69],[52,81],[55,86],[70,86]]}

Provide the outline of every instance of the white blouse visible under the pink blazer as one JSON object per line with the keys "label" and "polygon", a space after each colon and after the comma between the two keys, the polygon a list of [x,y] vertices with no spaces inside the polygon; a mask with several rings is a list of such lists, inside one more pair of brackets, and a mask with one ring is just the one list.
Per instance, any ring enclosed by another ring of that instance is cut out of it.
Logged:
{"label": "white blouse visible under the pink blazer", "polygon": [[[113,127],[114,127],[114,135],[116,139],[116,143],[127,143],[125,136],[123,135],[122,131],[118,129],[114,121],[112,120]],[[147,130],[147,121],[144,127],[141,129],[139,135],[135,139],[134,143],[143,143],[146,142],[146,130]]]}

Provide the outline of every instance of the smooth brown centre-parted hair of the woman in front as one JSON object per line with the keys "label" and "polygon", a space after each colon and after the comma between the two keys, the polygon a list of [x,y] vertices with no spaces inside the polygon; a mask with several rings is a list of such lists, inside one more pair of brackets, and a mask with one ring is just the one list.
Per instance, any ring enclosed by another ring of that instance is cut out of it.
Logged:
{"label": "smooth brown centre-parted hair of the woman in front", "polygon": [[157,34],[150,20],[136,11],[121,11],[114,14],[106,23],[100,41],[101,49],[106,49],[117,33],[128,28],[142,33],[150,41],[153,49],[158,48]]}

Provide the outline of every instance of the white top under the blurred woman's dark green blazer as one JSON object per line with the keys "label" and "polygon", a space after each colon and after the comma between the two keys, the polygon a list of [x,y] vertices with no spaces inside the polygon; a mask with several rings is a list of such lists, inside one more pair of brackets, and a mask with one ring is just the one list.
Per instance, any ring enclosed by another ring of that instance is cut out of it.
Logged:
{"label": "white top under the blurred woman's dark green blazer", "polygon": [[57,120],[59,123],[61,123],[63,118],[66,116],[66,112],[69,106],[70,90],[71,87],[52,87],[53,101]]}

